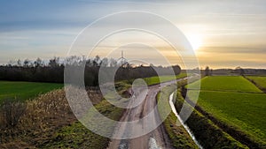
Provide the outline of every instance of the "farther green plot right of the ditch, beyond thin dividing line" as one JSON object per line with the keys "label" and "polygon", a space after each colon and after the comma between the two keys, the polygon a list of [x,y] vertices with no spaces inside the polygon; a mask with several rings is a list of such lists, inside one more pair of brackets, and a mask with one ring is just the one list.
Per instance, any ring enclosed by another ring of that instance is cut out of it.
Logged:
{"label": "farther green plot right of the ditch, beyond thin dividing line", "polygon": [[200,82],[197,81],[188,86],[188,88],[193,89],[193,86],[199,83],[201,83],[200,90],[262,93],[258,87],[241,76],[205,77]]}

